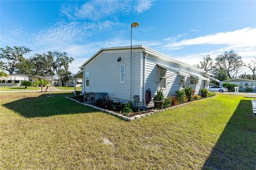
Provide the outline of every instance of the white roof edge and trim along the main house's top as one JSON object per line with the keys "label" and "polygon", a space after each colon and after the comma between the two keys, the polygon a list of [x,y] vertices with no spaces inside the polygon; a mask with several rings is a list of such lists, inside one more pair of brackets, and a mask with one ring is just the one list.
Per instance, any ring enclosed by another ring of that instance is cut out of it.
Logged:
{"label": "white roof edge and trim along the main house's top", "polygon": [[[132,46],[133,49],[144,49],[144,52],[145,53],[148,53],[148,54],[151,54],[151,55],[154,55],[158,58],[161,58],[161,59],[164,59],[164,60],[167,60],[169,62],[172,62],[172,63],[176,63],[176,64],[179,64],[179,65],[182,65],[182,66],[185,66],[185,67],[189,67],[190,69],[193,69],[193,70],[196,70],[196,71],[199,71],[199,72],[202,72],[202,73],[206,73],[208,74],[206,71],[204,70],[201,70],[201,69],[198,69],[197,67],[193,66],[193,65],[189,65],[187,63],[184,63],[184,62],[181,62],[179,60],[175,60],[167,55],[164,55],[162,53],[159,53],[157,52],[156,50],[153,50],[153,49],[150,49],[146,46],[143,46],[143,45],[136,45],[136,46]],[[95,53],[92,57],[89,58],[89,60],[87,60],[82,66],[85,66],[86,64],[88,64],[90,61],[93,60],[93,58],[95,58],[96,56],[98,56],[101,52],[103,52],[104,50],[118,50],[118,49],[131,49],[131,46],[123,46],[123,47],[110,47],[110,48],[101,48],[97,53]]]}

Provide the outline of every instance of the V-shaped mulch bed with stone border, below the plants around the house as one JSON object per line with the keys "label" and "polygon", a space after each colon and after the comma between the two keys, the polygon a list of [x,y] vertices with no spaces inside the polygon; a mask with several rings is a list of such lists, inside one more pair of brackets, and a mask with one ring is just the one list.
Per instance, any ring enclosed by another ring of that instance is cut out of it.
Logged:
{"label": "V-shaped mulch bed with stone border, below the plants around the house", "polygon": [[[212,97],[215,97],[215,96],[216,95],[214,95]],[[180,107],[180,106],[185,106],[185,105],[187,105],[189,103],[193,103],[195,101],[199,101],[199,100],[202,100],[202,99],[208,99],[208,98],[212,98],[212,97],[206,97],[206,98],[201,98],[201,99],[198,99],[198,100],[187,101],[187,102],[182,103],[182,104],[171,105],[171,106],[166,107],[164,109],[149,109],[149,110],[145,109],[144,111],[130,112],[130,113],[127,113],[127,114],[124,114],[122,112],[110,111],[109,109],[105,109],[105,108],[101,108],[101,107],[98,107],[98,106],[95,106],[95,105],[83,103],[83,102],[79,101],[78,97],[66,97],[66,98],[70,99],[70,100],[73,100],[73,101],[76,101],[77,103],[83,104],[85,106],[89,106],[89,107],[98,109],[99,111],[102,111],[102,112],[105,112],[105,113],[117,116],[119,118],[122,118],[125,121],[133,121],[133,120],[136,120],[138,118],[146,117],[146,116],[149,116],[149,115],[154,114],[154,113],[167,111],[169,109],[177,108],[177,107]],[[118,105],[118,103],[115,103],[115,104]]]}

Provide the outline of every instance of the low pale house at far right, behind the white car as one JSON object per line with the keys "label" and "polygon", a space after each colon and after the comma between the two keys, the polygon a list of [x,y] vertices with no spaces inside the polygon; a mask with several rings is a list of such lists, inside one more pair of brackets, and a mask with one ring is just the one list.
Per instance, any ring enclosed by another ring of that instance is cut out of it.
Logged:
{"label": "low pale house at far right, behind the white car", "polygon": [[245,91],[246,88],[252,88],[255,91],[256,88],[256,80],[247,80],[247,79],[232,79],[232,80],[225,80],[220,81],[220,86],[223,83],[236,83],[239,86],[239,90]]}

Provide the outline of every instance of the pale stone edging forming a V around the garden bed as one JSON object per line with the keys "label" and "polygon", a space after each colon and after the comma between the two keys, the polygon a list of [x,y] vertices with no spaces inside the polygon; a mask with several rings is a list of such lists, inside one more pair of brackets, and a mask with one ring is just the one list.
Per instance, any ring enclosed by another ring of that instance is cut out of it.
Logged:
{"label": "pale stone edging forming a V around the garden bed", "polygon": [[[215,95],[215,96],[217,96],[217,95]],[[210,98],[213,98],[213,97],[215,97],[215,96],[207,97],[207,98],[204,98],[204,99],[210,99]],[[80,101],[78,101],[78,100],[75,100],[75,99],[72,99],[72,98],[69,98],[69,97],[65,97],[65,98],[67,98],[67,99],[69,99],[69,100],[76,101],[76,102],[79,103],[79,104],[82,104],[82,105],[85,105],[85,106],[88,106],[88,107],[91,107],[91,108],[95,108],[95,109],[97,109],[97,110],[99,110],[99,111],[108,113],[108,114],[110,114],[110,115],[117,116],[117,117],[119,117],[119,118],[122,118],[122,119],[125,120],[125,121],[134,121],[134,120],[137,120],[137,119],[142,118],[142,117],[149,116],[149,115],[154,114],[154,113],[167,111],[167,110],[170,110],[170,109],[174,109],[174,108],[178,108],[178,107],[181,107],[181,106],[185,106],[185,105],[187,105],[187,104],[189,104],[189,103],[193,103],[193,102],[196,102],[196,101],[203,100],[203,99],[194,100],[194,101],[190,101],[190,102],[187,102],[187,103],[179,104],[179,105],[176,105],[176,106],[164,108],[164,109],[161,109],[161,110],[152,109],[151,112],[149,112],[149,113],[144,113],[144,114],[141,114],[141,115],[135,115],[135,116],[132,116],[132,117],[127,117],[127,116],[121,115],[121,114],[119,114],[119,113],[115,113],[115,112],[113,112],[113,111],[109,111],[109,110],[107,110],[107,109],[103,109],[103,108],[100,108],[100,107],[97,107],[97,106],[94,106],[94,105],[82,103],[82,102],[80,102]]]}

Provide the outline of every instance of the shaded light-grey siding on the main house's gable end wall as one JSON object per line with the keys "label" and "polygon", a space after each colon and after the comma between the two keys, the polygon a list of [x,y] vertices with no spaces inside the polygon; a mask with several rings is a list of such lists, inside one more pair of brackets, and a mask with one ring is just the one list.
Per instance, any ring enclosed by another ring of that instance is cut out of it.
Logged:
{"label": "shaded light-grey siding on the main house's gable end wall", "polygon": [[[132,97],[140,95],[140,56],[141,50],[134,49],[132,53]],[[118,57],[121,57],[120,62],[117,62]],[[124,64],[125,82],[121,83],[120,69]],[[130,50],[103,51],[84,67],[84,72],[90,73],[89,87],[84,85],[85,92],[107,92],[109,98],[130,100],[130,66]]]}

